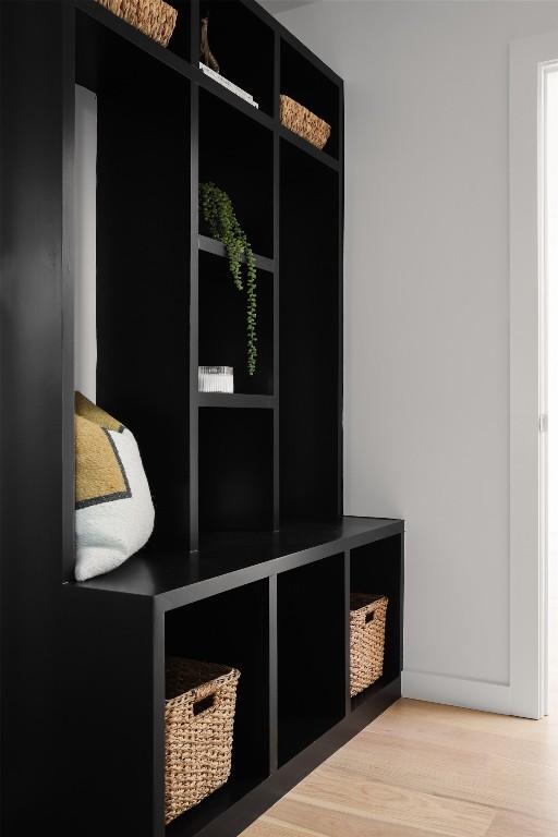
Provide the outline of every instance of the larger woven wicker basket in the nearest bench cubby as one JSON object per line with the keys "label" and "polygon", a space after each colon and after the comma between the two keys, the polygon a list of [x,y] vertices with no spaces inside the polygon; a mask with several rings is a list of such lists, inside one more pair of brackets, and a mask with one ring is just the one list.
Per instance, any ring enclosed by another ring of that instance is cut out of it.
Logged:
{"label": "larger woven wicker basket in the nearest bench cubby", "polygon": [[231,772],[240,671],[170,657],[165,707],[165,822],[225,785]]}

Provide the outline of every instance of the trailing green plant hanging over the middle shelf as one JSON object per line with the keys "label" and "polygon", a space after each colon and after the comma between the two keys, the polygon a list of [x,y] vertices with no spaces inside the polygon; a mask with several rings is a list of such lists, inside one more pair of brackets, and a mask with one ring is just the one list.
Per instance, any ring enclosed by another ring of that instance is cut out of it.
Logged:
{"label": "trailing green plant hanging over the middle shelf", "polygon": [[246,262],[246,342],[248,375],[254,375],[257,360],[256,336],[256,258],[246,233],[239,223],[229,195],[215,183],[199,184],[199,208],[214,239],[225,244],[232,280],[239,291],[242,281],[242,257]]}

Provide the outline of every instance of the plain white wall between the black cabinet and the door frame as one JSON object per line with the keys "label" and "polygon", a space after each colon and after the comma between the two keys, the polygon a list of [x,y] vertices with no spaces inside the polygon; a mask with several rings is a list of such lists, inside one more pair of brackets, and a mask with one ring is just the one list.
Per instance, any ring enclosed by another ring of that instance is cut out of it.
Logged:
{"label": "plain white wall between the black cabinet and the door frame", "polygon": [[345,80],[345,512],[407,520],[405,693],[505,709],[508,44],[558,3],[279,20]]}

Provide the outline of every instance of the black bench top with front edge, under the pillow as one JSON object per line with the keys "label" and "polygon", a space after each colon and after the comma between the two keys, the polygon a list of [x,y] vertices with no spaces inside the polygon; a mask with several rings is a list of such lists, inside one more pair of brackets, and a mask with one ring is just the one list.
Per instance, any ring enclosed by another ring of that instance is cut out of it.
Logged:
{"label": "black bench top with front edge, under the pillow", "polygon": [[277,532],[202,535],[197,553],[143,551],[106,575],[72,586],[147,596],[170,610],[402,533],[400,520],[343,517]]}

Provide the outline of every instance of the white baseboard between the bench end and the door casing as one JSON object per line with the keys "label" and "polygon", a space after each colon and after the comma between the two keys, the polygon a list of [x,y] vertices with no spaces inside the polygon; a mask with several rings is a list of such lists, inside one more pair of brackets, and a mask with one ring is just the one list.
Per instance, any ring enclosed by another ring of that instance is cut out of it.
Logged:
{"label": "white baseboard between the bench end and the door casing", "polygon": [[496,712],[500,715],[513,714],[511,688],[504,683],[404,670],[401,676],[401,690],[403,698],[417,701]]}

